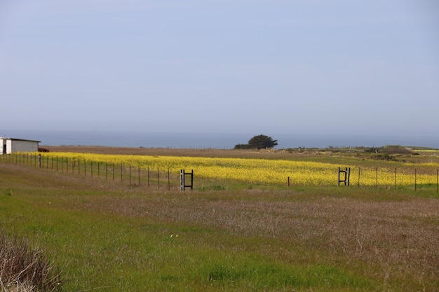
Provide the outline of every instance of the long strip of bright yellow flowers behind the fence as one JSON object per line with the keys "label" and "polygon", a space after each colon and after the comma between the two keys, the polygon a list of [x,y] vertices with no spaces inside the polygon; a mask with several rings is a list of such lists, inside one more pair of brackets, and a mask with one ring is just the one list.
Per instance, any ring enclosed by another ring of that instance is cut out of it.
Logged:
{"label": "long strip of bright yellow flowers behind the fence", "polygon": [[[25,158],[22,158],[23,160]],[[434,185],[438,183],[439,163],[410,164],[389,162],[386,166],[371,167],[362,160],[343,160],[335,163],[269,160],[254,158],[200,158],[154,155],[109,155],[94,153],[43,153],[41,163],[46,166],[56,161],[62,167],[85,167],[86,165],[116,165],[133,169],[161,169],[172,174],[180,174],[180,169],[190,171],[198,178],[217,181],[236,181],[242,183],[261,183],[282,185],[287,181],[296,186],[336,186],[339,167],[349,167],[350,183],[358,186],[413,186]],[[60,162],[61,161],[61,162]],[[81,170],[78,169],[80,172]],[[84,168],[84,171],[87,171]],[[89,171],[90,172],[90,171]]]}

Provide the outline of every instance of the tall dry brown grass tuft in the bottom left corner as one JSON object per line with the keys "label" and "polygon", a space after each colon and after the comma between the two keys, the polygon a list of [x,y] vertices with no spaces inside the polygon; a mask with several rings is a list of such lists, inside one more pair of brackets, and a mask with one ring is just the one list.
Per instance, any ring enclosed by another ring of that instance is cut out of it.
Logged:
{"label": "tall dry brown grass tuft in the bottom left corner", "polygon": [[0,230],[1,292],[55,291],[60,275],[41,249],[32,249],[27,239],[7,237]]}

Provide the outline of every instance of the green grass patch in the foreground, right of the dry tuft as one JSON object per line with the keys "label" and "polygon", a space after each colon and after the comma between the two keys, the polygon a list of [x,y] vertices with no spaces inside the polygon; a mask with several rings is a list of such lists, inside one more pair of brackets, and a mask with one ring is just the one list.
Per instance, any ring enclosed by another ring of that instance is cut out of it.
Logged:
{"label": "green grass patch in the foreground, right of the dry tuft", "polygon": [[[343,268],[283,263],[261,255],[255,238],[242,241],[218,230],[177,223],[60,211],[53,207],[59,204],[56,198],[54,201],[50,207],[36,207],[11,197],[1,203],[8,209],[15,206],[8,218],[13,232],[37,238],[55,263],[65,267],[65,291],[100,287],[105,291],[242,291],[370,285]],[[249,247],[253,250],[234,251]]]}

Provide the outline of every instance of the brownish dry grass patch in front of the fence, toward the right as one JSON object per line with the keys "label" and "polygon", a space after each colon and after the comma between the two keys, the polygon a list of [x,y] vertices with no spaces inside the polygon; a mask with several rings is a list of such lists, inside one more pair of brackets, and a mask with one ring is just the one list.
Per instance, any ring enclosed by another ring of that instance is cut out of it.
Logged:
{"label": "brownish dry grass patch in front of the fence, toward the right", "polygon": [[[273,239],[264,253],[306,263],[288,246],[324,251],[330,257],[366,263],[365,275],[383,281],[411,274],[439,279],[439,201],[405,198],[381,202],[349,197],[303,197],[287,191],[170,193],[163,196],[102,197],[72,206],[123,217],[151,218],[230,235]],[[284,245],[285,244],[285,245]],[[378,266],[374,270],[373,266]],[[379,275],[381,274],[381,276]]]}

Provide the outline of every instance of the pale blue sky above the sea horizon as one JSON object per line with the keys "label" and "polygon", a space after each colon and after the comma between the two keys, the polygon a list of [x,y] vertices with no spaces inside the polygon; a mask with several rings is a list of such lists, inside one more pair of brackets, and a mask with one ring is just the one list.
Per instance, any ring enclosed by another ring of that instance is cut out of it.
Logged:
{"label": "pale blue sky above the sea horizon", "polygon": [[439,133],[437,0],[1,0],[0,129]]}

